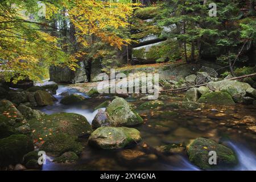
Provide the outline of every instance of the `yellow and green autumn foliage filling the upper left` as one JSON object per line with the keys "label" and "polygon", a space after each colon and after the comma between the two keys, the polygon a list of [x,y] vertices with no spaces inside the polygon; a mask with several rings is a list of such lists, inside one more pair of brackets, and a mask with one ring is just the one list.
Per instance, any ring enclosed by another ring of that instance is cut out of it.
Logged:
{"label": "yellow and green autumn foliage filling the upper left", "polygon": [[86,54],[82,47],[92,44],[89,38],[121,48],[131,40],[111,30],[129,26],[133,6],[129,1],[1,1],[1,75],[16,82],[40,80],[49,65],[75,70]]}

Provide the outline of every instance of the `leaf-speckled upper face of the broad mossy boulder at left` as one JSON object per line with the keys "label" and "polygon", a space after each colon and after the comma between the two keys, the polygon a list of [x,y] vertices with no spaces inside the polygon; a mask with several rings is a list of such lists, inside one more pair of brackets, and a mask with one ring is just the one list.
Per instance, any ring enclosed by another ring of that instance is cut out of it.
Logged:
{"label": "leaf-speckled upper face of the broad mossy boulder at left", "polygon": [[40,119],[31,119],[28,123],[34,131],[32,134],[34,139],[42,138],[46,140],[46,136],[58,133],[81,137],[83,135],[89,135],[93,131],[87,119],[75,113],[44,115]]}

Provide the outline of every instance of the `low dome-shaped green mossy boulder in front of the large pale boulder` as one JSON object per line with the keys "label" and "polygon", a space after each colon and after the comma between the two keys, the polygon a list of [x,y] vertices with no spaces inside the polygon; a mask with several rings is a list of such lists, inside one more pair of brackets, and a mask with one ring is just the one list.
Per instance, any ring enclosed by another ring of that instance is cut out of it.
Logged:
{"label": "low dome-shaped green mossy boulder in front of the large pale boulder", "polygon": [[197,102],[216,104],[216,105],[234,105],[234,101],[230,94],[226,92],[210,92],[203,94]]}

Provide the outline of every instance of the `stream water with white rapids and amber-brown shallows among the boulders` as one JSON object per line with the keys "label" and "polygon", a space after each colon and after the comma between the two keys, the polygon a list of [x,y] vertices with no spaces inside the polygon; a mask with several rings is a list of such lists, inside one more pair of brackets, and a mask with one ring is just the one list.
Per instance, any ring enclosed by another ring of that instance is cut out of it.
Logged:
{"label": "stream water with white rapids and amber-brown shallows among the boulders", "polygon": [[[52,113],[77,113],[84,115],[89,123],[92,122],[97,110],[93,108],[107,100],[88,98],[74,105],[60,104],[60,93],[68,91],[86,98],[86,94],[67,86],[59,86],[56,101],[53,106],[40,108],[47,114]],[[175,95],[173,95],[175,96]],[[180,96],[182,97],[182,96]],[[177,100],[178,97],[174,97]],[[176,102],[172,97],[164,100],[165,104]],[[139,106],[143,102],[127,99],[132,104]],[[105,109],[105,108],[102,108]],[[188,144],[191,139],[206,137],[224,143],[236,152],[239,163],[234,168],[225,170],[256,170],[256,135],[248,129],[248,118],[256,118],[255,106],[213,106],[206,105],[201,110],[175,109],[168,105],[152,110],[139,112],[144,119],[144,124],[137,128],[141,131],[141,145],[130,147],[135,151],[143,151],[146,155],[135,161],[123,158],[122,150],[99,150],[87,145],[88,137],[81,138],[85,149],[79,161],[73,164],[56,164],[47,161],[43,170],[200,170],[191,164],[185,151],[175,155],[158,156],[154,152],[145,151],[142,147],[147,144],[151,147],[163,146],[170,143]],[[246,120],[247,118],[247,120]]]}

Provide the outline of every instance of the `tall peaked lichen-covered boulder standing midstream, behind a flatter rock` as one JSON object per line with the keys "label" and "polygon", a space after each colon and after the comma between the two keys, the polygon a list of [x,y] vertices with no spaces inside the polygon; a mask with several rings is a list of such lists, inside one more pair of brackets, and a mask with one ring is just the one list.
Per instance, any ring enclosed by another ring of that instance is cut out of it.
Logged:
{"label": "tall peaked lichen-covered boulder standing midstream, behind a flatter rock", "polygon": [[143,119],[123,98],[115,98],[106,107],[112,126],[134,126],[143,123]]}

